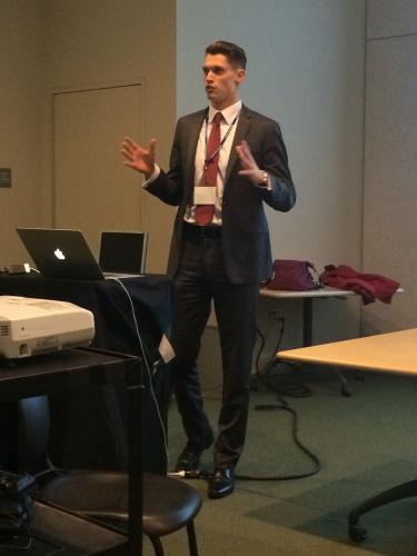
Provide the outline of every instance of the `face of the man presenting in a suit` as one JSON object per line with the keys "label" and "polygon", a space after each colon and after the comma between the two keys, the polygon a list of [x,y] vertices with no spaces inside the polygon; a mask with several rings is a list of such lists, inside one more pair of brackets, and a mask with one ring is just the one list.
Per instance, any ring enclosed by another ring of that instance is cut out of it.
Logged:
{"label": "face of the man presenting in a suit", "polygon": [[245,80],[245,70],[235,68],[224,54],[207,54],[202,66],[207,98],[218,110],[234,105],[239,99],[239,85]]}

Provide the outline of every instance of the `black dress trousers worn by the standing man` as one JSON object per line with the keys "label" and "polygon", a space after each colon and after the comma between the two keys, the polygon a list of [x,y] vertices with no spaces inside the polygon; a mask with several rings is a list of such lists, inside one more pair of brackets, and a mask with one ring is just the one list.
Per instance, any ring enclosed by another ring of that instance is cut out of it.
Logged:
{"label": "black dress trousers worn by the standing man", "polygon": [[235,466],[244,449],[258,292],[258,284],[237,285],[228,279],[221,237],[186,236],[173,280],[175,393],[189,444],[197,449],[207,447],[212,433],[196,364],[212,299],[224,374],[216,467]]}

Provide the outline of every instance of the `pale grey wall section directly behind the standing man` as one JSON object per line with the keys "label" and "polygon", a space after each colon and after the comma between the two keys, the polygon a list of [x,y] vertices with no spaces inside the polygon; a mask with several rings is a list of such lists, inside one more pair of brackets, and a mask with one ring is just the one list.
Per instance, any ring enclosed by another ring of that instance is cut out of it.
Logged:
{"label": "pale grey wall section directly behind the standing man", "polygon": [[[287,215],[268,212],[275,257],[360,268],[365,1],[177,0],[177,7],[178,113],[206,105],[203,48],[222,38],[246,49],[244,101],[281,125],[298,201]],[[285,342],[299,344],[299,304],[261,301],[265,330],[274,326],[270,309],[287,317]],[[358,331],[357,301],[316,304],[315,341]]]}

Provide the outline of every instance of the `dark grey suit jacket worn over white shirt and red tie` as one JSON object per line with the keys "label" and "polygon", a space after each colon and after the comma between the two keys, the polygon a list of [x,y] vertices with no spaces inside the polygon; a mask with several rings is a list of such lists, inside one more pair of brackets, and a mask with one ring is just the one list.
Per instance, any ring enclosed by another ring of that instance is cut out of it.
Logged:
{"label": "dark grey suit jacket worn over white shirt and red tie", "polygon": [[[178,206],[168,261],[170,276],[178,267],[183,216],[187,205],[192,202],[196,149],[206,115],[207,109],[178,120],[170,169],[168,172],[161,170],[147,187],[163,202]],[[247,177],[238,175],[241,166],[236,146],[244,139],[259,168],[269,173],[271,191],[258,188]],[[225,264],[234,284],[259,284],[272,274],[264,201],[276,210],[287,211],[296,201],[296,191],[278,123],[244,106],[226,170],[221,209]]]}

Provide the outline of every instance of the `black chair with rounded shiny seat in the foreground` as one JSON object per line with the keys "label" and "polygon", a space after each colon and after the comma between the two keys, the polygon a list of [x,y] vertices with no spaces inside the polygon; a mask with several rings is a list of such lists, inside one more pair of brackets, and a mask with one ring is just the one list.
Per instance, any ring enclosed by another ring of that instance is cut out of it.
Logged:
{"label": "black chair with rounded shiny seat in the foreground", "polygon": [[[47,396],[19,401],[19,464],[37,476],[36,499],[127,530],[128,476],[120,471],[60,470],[48,457],[50,410]],[[160,537],[187,527],[190,556],[198,556],[193,519],[202,500],[183,481],[143,473],[142,532],[163,556]]]}

